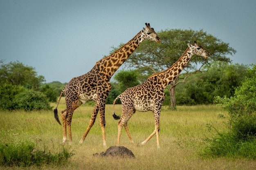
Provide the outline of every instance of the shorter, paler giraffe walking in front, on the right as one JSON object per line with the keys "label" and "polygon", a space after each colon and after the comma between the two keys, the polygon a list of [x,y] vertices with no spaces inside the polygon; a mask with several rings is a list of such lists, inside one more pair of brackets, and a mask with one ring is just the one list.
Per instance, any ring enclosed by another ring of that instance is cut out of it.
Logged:
{"label": "shorter, paler giraffe walking in front, on the right", "polygon": [[122,103],[122,115],[121,118],[113,113],[115,119],[120,119],[118,122],[118,137],[117,144],[120,144],[121,129],[124,126],[126,133],[130,139],[130,143],[133,144],[132,137],[128,131],[127,122],[135,113],[135,111],[153,111],[155,120],[155,130],[149,137],[141,142],[141,145],[146,144],[148,140],[157,134],[157,148],[159,145],[159,117],[161,106],[164,102],[164,89],[169,85],[185,68],[186,64],[189,62],[193,54],[203,56],[205,58],[210,57],[210,54],[204,50],[201,46],[195,42],[194,45],[188,44],[188,48],[184,54],[180,57],[176,63],[174,63],[170,68],[163,72],[159,72],[150,76],[144,83],[137,85],[135,87],[130,87],[126,89],[122,94],[117,96],[113,102],[113,110],[115,107],[115,102],[120,98]]}

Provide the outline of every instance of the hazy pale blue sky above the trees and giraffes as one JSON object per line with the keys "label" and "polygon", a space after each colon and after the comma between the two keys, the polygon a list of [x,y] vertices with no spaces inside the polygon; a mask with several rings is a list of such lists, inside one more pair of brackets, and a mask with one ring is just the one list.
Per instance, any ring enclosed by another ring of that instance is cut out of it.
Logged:
{"label": "hazy pale blue sky above the trees and giraffes", "polygon": [[203,29],[237,50],[233,63],[255,64],[255,7],[255,0],[0,0],[0,60],[65,83],[147,22],[155,31]]}

